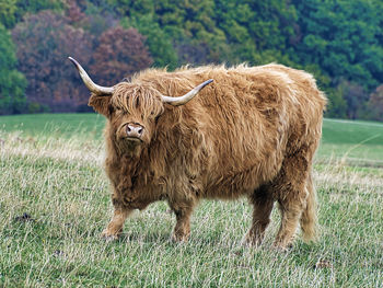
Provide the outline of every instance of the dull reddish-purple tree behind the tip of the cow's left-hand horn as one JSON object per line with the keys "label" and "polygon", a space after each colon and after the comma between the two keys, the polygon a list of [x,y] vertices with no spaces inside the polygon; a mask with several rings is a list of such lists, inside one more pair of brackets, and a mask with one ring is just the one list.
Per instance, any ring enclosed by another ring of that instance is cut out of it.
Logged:
{"label": "dull reddish-purple tree behind the tip of the cow's left-hand horn", "polygon": [[65,16],[50,11],[31,14],[12,31],[18,45],[19,70],[27,81],[27,100],[35,110],[73,111],[88,101],[68,56],[89,66],[92,36],[68,24]]}

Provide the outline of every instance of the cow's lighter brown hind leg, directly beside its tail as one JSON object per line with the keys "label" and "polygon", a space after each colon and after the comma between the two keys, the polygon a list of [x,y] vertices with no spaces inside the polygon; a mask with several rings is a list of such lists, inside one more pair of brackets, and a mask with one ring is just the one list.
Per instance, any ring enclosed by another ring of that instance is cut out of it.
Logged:
{"label": "cow's lighter brown hind leg, directly beside its tail", "polygon": [[275,182],[281,224],[274,245],[280,250],[292,245],[302,212],[306,206],[306,182],[311,159],[307,159],[304,151],[298,151],[283,161],[282,169]]}

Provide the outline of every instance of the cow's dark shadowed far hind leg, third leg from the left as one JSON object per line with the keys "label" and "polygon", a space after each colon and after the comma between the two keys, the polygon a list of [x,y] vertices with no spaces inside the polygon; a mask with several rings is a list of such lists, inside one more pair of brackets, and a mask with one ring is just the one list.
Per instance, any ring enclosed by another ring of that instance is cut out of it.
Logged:
{"label": "cow's dark shadowed far hind leg, third leg from the left", "polygon": [[253,223],[246,235],[246,243],[258,246],[265,238],[265,230],[270,222],[274,198],[269,186],[260,186],[249,197],[254,206]]}

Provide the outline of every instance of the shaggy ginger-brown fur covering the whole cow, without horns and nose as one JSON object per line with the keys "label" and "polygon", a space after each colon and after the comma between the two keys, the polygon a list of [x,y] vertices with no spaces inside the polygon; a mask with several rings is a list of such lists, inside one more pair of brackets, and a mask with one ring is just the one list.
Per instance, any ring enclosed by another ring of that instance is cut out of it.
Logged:
{"label": "shaggy ginger-brown fur covering the whole cow, without horns and nose", "polygon": [[[210,78],[185,105],[161,101]],[[164,199],[176,216],[173,239],[186,241],[199,199],[246,196],[254,206],[249,244],[262,243],[275,201],[277,247],[292,243],[299,222],[304,240],[315,238],[311,174],[326,99],[311,74],[274,64],[153,69],[114,88],[89,102],[108,119],[105,166],[115,211],[104,237],[118,237],[134,209]],[[127,139],[128,124],[143,127],[140,140]]]}

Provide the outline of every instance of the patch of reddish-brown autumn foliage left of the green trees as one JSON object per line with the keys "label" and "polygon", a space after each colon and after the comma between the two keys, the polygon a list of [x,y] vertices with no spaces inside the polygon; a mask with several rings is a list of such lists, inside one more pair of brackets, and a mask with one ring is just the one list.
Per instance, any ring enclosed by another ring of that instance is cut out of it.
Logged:
{"label": "patch of reddish-brown autumn foliage left of the green trees", "polygon": [[135,28],[117,26],[100,36],[92,35],[71,25],[80,21],[79,15],[84,16],[77,12],[76,7],[68,16],[42,11],[26,16],[12,31],[19,70],[28,82],[25,92],[30,112],[88,110],[89,91],[67,60],[68,56],[90,67],[94,78],[108,85],[152,64],[143,45],[144,37]]}

